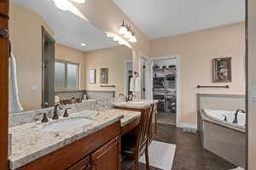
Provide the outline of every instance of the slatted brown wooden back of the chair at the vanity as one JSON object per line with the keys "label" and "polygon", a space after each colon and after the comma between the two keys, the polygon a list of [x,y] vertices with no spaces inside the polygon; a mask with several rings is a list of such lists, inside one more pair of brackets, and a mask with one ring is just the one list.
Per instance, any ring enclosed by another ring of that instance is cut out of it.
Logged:
{"label": "slatted brown wooden back of the chair at the vanity", "polygon": [[141,154],[145,149],[146,143],[148,142],[150,135],[150,125],[152,122],[154,105],[151,105],[150,108],[143,110],[140,125],[138,129],[138,138],[137,138],[137,154]]}

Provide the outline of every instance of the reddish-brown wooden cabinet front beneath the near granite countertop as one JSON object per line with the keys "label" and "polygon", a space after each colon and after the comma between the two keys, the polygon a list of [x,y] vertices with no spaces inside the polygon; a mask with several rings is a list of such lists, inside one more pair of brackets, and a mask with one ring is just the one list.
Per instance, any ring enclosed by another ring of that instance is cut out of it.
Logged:
{"label": "reddish-brown wooden cabinet front beneath the near granite countertop", "polygon": [[114,122],[18,169],[120,170],[120,135],[120,121]]}

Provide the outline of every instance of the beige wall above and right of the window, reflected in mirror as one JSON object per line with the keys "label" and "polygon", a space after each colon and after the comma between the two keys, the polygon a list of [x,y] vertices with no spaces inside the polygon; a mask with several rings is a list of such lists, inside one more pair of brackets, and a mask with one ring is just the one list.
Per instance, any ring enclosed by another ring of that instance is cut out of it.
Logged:
{"label": "beige wall above and right of the window, reflected in mirror", "polygon": [[75,48],[55,43],[55,59],[73,62],[80,66],[80,88],[85,88],[85,53]]}

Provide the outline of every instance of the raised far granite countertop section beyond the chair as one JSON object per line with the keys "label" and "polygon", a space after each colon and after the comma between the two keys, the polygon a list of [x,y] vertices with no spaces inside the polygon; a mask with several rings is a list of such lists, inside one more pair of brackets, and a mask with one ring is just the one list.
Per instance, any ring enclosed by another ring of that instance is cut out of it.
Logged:
{"label": "raised far granite countertop section beyond the chair", "polygon": [[150,105],[158,103],[158,100],[134,100],[129,102],[117,102],[114,106],[128,107],[134,109],[148,109]]}

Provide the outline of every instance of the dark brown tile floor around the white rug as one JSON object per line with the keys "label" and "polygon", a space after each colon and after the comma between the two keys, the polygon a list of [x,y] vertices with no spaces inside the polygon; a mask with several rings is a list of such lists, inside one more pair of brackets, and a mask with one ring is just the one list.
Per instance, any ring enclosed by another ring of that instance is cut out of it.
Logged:
{"label": "dark brown tile floor around the white rug", "polygon": [[[159,123],[155,140],[177,144],[172,170],[230,170],[236,168],[224,159],[204,150],[200,137],[196,133],[186,133],[181,128]],[[122,164],[122,170],[132,169],[131,161],[125,161]],[[141,169],[145,169],[143,164],[141,164]],[[151,170],[160,169],[152,167]]]}

